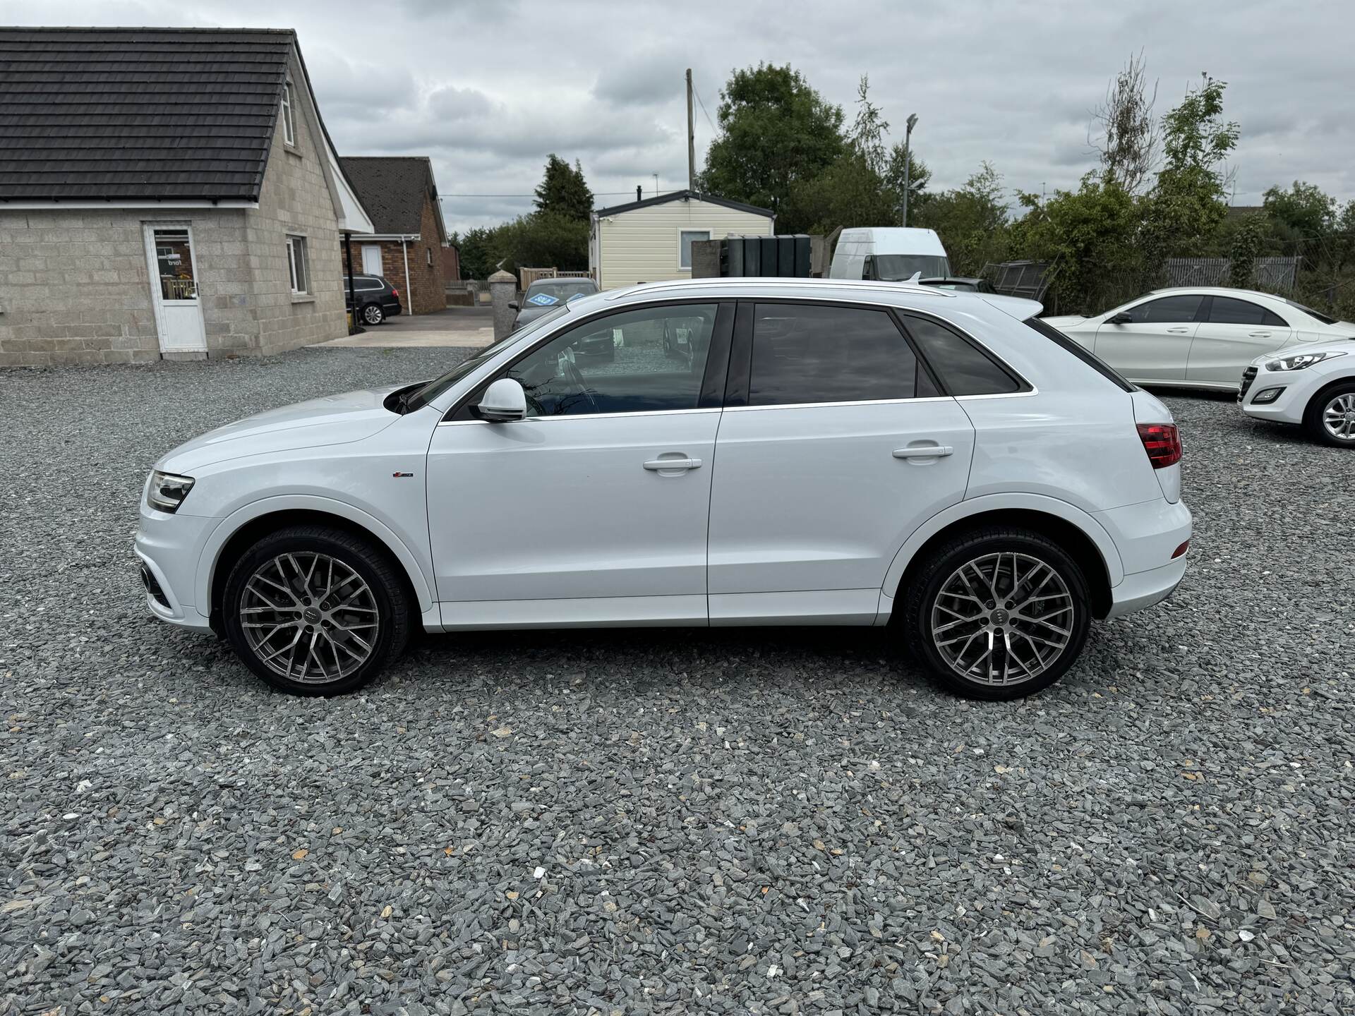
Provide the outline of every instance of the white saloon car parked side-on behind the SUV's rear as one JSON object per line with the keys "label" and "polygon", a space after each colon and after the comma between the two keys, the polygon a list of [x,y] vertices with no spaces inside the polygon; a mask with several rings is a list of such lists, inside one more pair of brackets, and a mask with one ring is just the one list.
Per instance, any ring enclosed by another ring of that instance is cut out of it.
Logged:
{"label": "white saloon car parked side-on behind the SUV's rear", "polygon": [[1262,354],[1348,339],[1336,321],[1283,297],[1221,287],[1156,290],[1096,317],[1046,317],[1141,385],[1237,390]]}

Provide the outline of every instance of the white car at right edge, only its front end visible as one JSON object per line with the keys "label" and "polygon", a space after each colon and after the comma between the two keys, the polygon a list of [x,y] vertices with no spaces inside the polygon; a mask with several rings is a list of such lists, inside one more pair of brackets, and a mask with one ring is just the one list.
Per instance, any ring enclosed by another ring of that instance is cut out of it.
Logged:
{"label": "white car at right edge, only its front end visible", "polygon": [[1257,420],[1299,424],[1320,442],[1355,448],[1355,336],[1257,356],[1237,401]]}

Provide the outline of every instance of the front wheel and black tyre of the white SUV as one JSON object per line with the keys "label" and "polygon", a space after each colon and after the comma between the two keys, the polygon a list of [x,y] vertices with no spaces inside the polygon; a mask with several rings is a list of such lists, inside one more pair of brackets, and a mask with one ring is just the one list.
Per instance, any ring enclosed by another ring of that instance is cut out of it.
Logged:
{"label": "front wheel and black tyre of the white SUV", "polygon": [[343,530],[270,534],[226,578],[222,627],[256,675],[295,695],[360,688],[409,639],[400,565]]}

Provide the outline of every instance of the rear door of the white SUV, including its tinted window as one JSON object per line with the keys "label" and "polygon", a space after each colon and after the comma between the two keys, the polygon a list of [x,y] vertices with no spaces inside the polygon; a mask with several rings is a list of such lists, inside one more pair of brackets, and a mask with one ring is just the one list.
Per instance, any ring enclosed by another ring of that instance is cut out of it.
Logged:
{"label": "rear door of the white SUV, including its tinted window", "polygon": [[974,431],[894,317],[743,301],[710,504],[710,623],[870,623],[894,553],[965,496]]}

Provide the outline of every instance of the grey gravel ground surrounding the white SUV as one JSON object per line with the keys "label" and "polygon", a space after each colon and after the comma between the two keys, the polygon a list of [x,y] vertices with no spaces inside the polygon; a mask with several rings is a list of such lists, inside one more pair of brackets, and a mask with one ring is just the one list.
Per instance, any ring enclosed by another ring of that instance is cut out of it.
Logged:
{"label": "grey gravel ground surrounding the white SUV", "polygon": [[455,356],[0,373],[0,1012],[1355,1008],[1355,455],[1169,397],[1186,581],[1023,703],[873,630],[428,637],[297,699],[148,616],[163,451]]}

